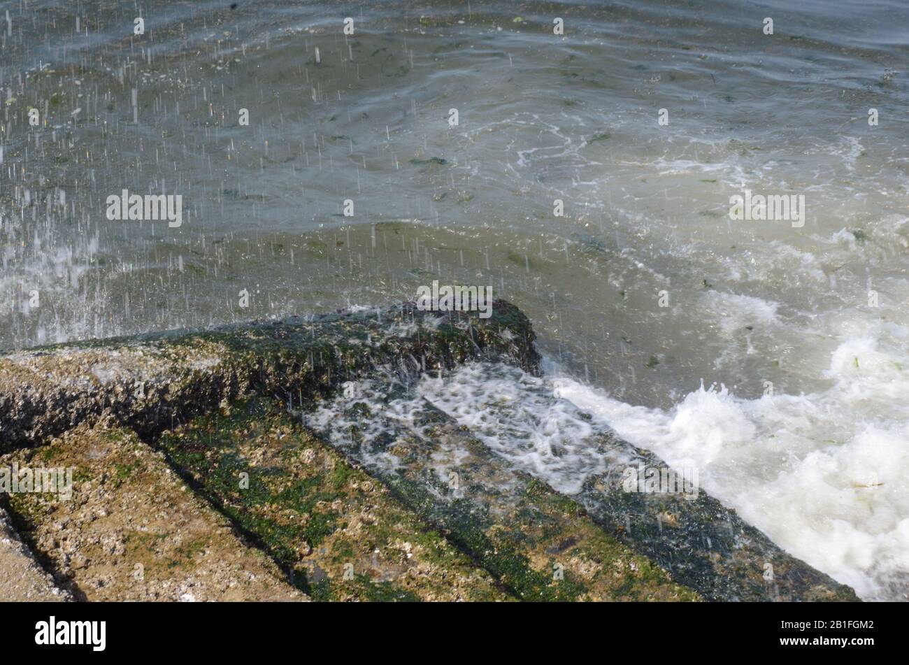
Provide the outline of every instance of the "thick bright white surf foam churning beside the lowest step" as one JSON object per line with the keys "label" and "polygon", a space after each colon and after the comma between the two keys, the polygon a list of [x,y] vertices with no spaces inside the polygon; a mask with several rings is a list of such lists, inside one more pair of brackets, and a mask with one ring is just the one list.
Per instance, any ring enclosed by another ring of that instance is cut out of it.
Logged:
{"label": "thick bright white surf foam churning beside the lowest step", "polygon": [[556,392],[669,464],[696,467],[706,491],[865,600],[906,600],[909,414],[898,402],[909,375],[868,339],[843,342],[830,373],[834,386],[809,395],[745,400],[702,385],[668,411],[572,379]]}

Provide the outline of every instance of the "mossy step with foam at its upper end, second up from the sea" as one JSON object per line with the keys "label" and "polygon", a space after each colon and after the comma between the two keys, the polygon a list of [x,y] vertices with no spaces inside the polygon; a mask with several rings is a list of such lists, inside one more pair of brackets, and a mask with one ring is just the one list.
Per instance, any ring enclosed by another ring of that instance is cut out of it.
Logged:
{"label": "mossy step with foam at its upper end, second up from the sea", "polygon": [[298,414],[522,600],[699,600],[386,375]]}

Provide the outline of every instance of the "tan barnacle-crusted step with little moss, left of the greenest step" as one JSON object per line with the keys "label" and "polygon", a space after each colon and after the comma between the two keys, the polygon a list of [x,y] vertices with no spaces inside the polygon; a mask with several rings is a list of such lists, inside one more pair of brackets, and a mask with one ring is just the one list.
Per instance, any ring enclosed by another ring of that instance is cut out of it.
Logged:
{"label": "tan barnacle-crusted step with little moss, left of the greenest step", "polygon": [[14,463],[23,481],[71,471],[71,485],[20,483],[8,502],[23,540],[77,600],[307,600],[134,432],[80,425],[0,457]]}

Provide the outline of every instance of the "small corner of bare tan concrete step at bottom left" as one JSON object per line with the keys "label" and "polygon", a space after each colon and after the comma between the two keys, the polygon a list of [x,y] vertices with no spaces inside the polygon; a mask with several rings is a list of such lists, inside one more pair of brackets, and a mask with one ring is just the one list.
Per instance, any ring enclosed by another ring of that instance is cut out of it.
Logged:
{"label": "small corner of bare tan concrete step at bottom left", "polygon": [[0,602],[23,600],[59,602],[72,600],[72,596],[60,589],[35,561],[0,507]]}

